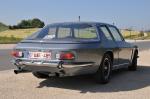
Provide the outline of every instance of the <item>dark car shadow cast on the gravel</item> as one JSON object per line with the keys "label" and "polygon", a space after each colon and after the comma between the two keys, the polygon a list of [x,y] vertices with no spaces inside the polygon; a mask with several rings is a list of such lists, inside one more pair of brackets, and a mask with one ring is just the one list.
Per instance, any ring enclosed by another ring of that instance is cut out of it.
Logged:
{"label": "dark car shadow cast on the gravel", "polygon": [[119,92],[131,91],[150,86],[150,67],[139,66],[137,71],[120,69],[113,71],[112,79],[108,84],[98,84],[91,75],[51,78],[39,83],[38,88],[55,87],[86,92]]}

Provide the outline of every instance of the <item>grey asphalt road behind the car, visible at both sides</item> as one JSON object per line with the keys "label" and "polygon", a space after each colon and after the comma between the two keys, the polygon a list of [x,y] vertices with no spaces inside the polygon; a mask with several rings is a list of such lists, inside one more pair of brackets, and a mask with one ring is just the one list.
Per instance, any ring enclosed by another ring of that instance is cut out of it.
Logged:
{"label": "grey asphalt road behind the car, visible at both sides", "polygon": [[[140,50],[147,50],[150,48],[150,41],[133,42],[138,45]],[[0,49],[0,71],[14,69],[15,66],[11,64],[11,49]]]}

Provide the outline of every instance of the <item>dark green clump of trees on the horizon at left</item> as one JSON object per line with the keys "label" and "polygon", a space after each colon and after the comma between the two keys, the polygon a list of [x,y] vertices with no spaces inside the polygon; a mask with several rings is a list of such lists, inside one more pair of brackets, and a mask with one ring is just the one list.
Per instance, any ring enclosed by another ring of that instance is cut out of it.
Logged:
{"label": "dark green clump of trees on the horizon at left", "polygon": [[9,26],[9,29],[43,28],[44,22],[38,18],[22,20],[17,25]]}

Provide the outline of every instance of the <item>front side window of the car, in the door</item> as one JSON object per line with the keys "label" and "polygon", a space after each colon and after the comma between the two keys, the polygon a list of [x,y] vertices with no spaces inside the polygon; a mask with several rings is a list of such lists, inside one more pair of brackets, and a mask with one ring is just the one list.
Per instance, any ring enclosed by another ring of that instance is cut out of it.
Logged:
{"label": "front side window of the car, in the door", "polygon": [[121,37],[121,35],[119,34],[118,30],[115,27],[109,27],[109,30],[111,31],[116,41],[123,41],[123,38]]}

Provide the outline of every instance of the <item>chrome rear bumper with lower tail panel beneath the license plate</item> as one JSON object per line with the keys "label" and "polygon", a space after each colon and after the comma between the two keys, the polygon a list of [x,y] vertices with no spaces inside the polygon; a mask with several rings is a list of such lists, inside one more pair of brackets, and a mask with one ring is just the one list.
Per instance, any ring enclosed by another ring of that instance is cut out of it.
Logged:
{"label": "chrome rear bumper with lower tail panel beneath the license plate", "polygon": [[94,66],[93,62],[63,62],[59,60],[54,61],[18,61],[13,60],[12,63],[23,70],[46,71],[50,73],[59,73],[63,76],[73,76],[79,74],[90,73]]}

